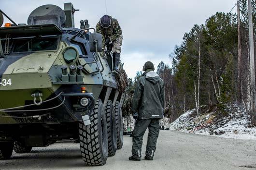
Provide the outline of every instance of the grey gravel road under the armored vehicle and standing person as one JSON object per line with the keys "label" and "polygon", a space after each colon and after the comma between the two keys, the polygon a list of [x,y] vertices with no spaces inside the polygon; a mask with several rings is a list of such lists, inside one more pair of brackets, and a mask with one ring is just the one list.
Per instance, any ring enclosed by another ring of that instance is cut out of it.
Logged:
{"label": "grey gravel road under the armored vehicle and standing person", "polygon": [[[146,141],[147,135],[144,135]],[[85,167],[79,144],[60,141],[48,147],[35,147],[31,153],[0,160],[0,169],[74,170],[252,170],[256,169],[256,141],[160,131],[153,161],[129,161],[132,138],[124,136],[124,146],[109,157],[105,166]],[[142,153],[145,152],[145,144]]]}

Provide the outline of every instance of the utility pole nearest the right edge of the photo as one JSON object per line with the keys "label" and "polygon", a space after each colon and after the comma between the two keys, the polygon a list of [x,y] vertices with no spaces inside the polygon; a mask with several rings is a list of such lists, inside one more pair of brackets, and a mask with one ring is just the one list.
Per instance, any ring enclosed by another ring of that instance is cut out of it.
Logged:
{"label": "utility pole nearest the right edge of the photo", "polygon": [[254,65],[254,35],[252,1],[248,0],[249,42],[250,42],[250,73],[251,73],[251,110],[252,120],[256,124],[256,94],[255,94],[255,65]]}

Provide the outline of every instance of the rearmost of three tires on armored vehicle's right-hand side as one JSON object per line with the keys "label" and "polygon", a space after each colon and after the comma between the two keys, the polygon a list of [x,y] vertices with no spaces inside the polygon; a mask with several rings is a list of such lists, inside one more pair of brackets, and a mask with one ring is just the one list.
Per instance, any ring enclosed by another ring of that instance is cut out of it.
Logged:
{"label": "rearmost of three tires on armored vehicle's right-hand side", "polygon": [[115,123],[116,123],[116,137],[117,137],[117,149],[122,149],[124,143],[124,129],[123,129],[123,116],[120,103],[117,101],[114,105]]}

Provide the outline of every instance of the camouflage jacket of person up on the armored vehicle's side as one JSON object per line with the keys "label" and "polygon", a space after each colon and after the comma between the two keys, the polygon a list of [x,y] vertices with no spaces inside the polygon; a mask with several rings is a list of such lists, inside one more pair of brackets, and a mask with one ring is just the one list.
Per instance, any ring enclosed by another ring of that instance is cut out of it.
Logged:
{"label": "camouflage jacket of person up on the armored vehicle's side", "polygon": [[109,28],[105,29],[100,26],[100,22],[96,25],[96,32],[102,35],[102,47],[105,47],[106,38],[110,38],[110,41],[116,40],[118,37],[122,36],[122,29],[118,24],[118,21],[110,16],[111,25]]}

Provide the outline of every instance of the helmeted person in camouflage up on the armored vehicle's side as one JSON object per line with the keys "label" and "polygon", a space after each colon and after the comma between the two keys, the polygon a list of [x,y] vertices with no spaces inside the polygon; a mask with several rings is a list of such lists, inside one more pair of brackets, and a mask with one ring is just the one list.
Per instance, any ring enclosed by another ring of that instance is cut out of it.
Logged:
{"label": "helmeted person in camouflage up on the armored vehicle's side", "polygon": [[111,16],[104,15],[96,25],[96,32],[102,35],[102,48],[112,47],[106,52],[113,52],[114,70],[119,70],[121,45],[123,41],[122,29],[118,21]]}

